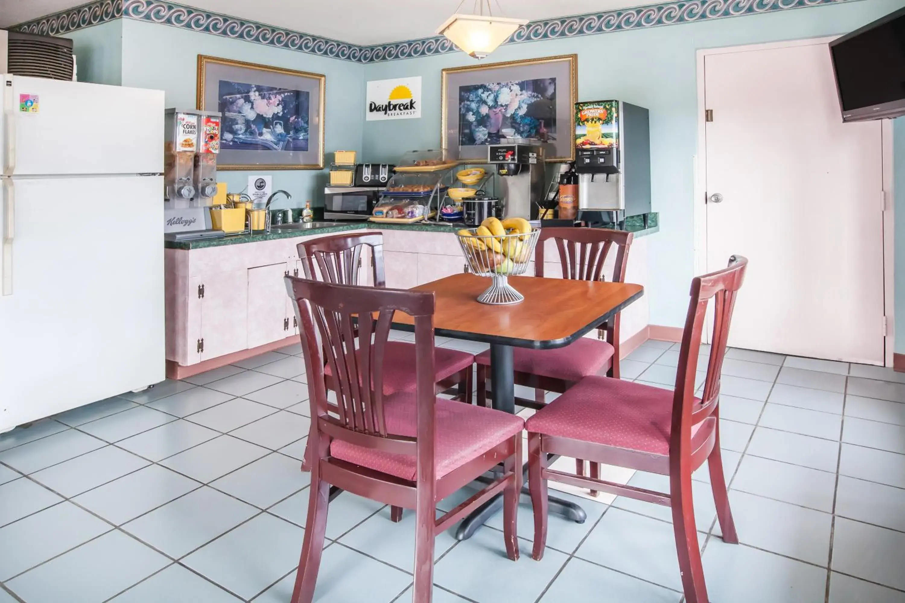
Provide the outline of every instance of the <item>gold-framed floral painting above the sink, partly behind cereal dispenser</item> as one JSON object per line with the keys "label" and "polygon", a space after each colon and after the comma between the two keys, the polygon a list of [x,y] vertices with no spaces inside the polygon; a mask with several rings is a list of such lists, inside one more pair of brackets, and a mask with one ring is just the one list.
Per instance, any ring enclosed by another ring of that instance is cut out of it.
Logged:
{"label": "gold-framed floral painting above the sink, partly behind cereal dispenser", "polygon": [[324,89],[318,73],[198,55],[197,108],[222,115],[222,170],[319,170]]}

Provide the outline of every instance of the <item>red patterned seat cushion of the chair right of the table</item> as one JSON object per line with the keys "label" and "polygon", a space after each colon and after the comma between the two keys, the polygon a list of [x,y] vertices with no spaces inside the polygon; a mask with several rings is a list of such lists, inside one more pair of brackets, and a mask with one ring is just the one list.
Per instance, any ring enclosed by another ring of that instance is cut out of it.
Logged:
{"label": "red patterned seat cushion of the chair right of the table", "polygon": [[538,410],[525,428],[548,436],[669,455],[672,391],[609,377],[586,377]]}

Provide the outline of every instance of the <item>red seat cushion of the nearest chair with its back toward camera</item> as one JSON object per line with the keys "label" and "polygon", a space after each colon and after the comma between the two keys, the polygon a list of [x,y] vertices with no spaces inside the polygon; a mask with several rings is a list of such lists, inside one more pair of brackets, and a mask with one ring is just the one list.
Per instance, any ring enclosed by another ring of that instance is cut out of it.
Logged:
{"label": "red seat cushion of the nearest chair with its back toward camera", "polygon": [[[521,432],[525,422],[516,415],[485,409],[444,398],[436,399],[434,463],[437,478]],[[386,431],[397,436],[415,436],[414,393],[396,393],[384,400]],[[398,455],[349,444],[338,439],[330,445],[333,457],[367,466],[391,476],[414,480],[414,455]]]}

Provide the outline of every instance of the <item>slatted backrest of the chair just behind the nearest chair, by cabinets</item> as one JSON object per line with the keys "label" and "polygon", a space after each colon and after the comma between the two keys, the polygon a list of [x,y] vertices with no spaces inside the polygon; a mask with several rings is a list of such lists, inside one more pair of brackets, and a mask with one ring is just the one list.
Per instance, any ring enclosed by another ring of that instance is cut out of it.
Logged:
{"label": "slatted backrest of the chair just behind the nearest chair, by cabinets", "polygon": [[384,235],[380,232],[356,232],[334,234],[299,243],[299,258],[306,278],[317,278],[315,262],[320,272],[319,280],[340,285],[358,285],[362,250],[371,250],[372,276],[375,287],[386,287],[384,270]]}

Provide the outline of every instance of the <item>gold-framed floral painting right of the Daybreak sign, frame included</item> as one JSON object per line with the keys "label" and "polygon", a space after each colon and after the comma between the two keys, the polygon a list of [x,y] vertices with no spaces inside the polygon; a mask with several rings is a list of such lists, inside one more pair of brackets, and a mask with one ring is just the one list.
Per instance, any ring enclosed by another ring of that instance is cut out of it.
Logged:
{"label": "gold-framed floral painting right of the Daybreak sign, frame included", "polygon": [[453,158],[487,158],[487,146],[539,141],[547,161],[575,160],[578,56],[443,70],[443,148]]}

